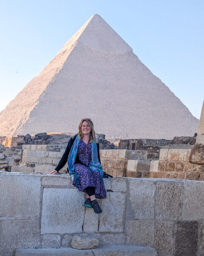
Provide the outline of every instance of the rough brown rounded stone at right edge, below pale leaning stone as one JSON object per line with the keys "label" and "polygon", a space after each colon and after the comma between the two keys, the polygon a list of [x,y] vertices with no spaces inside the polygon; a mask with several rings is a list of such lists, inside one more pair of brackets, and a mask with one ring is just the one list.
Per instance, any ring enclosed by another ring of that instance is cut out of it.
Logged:
{"label": "rough brown rounded stone at right edge, below pale leaning stone", "polygon": [[195,143],[190,152],[190,163],[204,164],[204,144]]}

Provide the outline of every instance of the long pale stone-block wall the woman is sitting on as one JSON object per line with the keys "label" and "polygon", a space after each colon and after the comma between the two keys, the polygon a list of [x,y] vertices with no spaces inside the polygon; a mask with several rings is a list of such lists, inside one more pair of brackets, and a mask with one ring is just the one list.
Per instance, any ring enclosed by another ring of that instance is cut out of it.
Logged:
{"label": "long pale stone-block wall the woman is sitting on", "polygon": [[[68,175],[0,174],[0,255],[15,248],[69,247],[74,234],[100,245],[154,247],[158,256],[204,256],[204,182],[104,179],[102,213],[82,207]],[[5,193],[5,191],[7,191]],[[11,196],[12,195],[12,196]]]}

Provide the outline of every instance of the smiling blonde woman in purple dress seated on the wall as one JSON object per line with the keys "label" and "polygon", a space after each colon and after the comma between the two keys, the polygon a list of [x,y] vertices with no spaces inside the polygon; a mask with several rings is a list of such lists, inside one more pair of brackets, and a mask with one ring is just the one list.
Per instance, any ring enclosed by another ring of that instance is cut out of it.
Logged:
{"label": "smiling blonde woman in purple dress seated on the wall", "polygon": [[81,120],[79,132],[71,137],[57,167],[49,174],[59,172],[66,162],[68,162],[69,175],[74,177],[72,184],[79,191],[88,194],[84,206],[93,208],[97,214],[101,213],[102,209],[96,198],[106,198],[106,191],[99,154],[99,141],[90,118]]}

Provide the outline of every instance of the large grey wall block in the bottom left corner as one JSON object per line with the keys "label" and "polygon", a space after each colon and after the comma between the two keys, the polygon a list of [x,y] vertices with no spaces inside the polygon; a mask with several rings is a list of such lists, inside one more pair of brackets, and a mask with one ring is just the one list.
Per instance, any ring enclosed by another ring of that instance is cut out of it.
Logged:
{"label": "large grey wall block in the bottom left corner", "polygon": [[1,220],[0,238],[0,255],[2,256],[14,255],[16,248],[40,246],[39,220]]}

